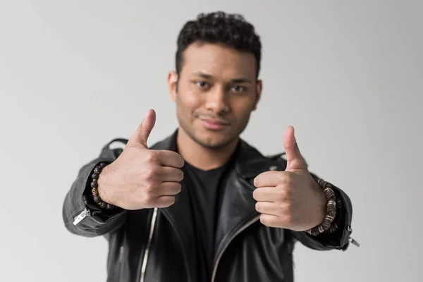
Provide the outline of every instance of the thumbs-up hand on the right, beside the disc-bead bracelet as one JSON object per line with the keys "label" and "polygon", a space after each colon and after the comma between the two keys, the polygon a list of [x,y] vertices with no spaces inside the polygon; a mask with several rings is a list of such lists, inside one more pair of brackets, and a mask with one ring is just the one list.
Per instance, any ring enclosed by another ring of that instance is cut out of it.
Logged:
{"label": "thumbs-up hand on the right, beside the disc-bead bracelet", "polygon": [[283,146],[286,170],[266,171],[254,179],[256,210],[265,226],[306,231],[324,220],[326,196],[307,169],[292,126],[285,130]]}

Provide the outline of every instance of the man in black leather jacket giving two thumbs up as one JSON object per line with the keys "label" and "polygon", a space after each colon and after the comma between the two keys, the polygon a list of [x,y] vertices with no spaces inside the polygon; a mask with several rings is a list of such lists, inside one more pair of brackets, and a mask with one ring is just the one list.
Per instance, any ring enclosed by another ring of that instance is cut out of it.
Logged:
{"label": "man in black leather jacket giving two thumbs up", "polygon": [[108,281],[293,281],[296,240],[348,248],[351,202],[309,173],[293,128],[286,159],[240,140],[262,94],[260,56],[242,16],[189,21],[168,75],[178,130],[148,147],[149,110],[130,140],[111,141],[124,149],[109,143],[80,169],[63,219],[109,240]]}

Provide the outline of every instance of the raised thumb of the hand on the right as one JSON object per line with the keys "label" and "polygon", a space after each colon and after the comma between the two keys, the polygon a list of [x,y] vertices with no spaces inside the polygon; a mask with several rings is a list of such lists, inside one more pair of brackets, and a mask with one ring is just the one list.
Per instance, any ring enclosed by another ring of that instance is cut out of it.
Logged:
{"label": "raised thumb of the hand on the right", "polygon": [[307,170],[307,164],[300,153],[300,148],[298,148],[295,131],[292,126],[288,126],[283,134],[283,147],[285,147],[286,152],[286,171],[290,169]]}

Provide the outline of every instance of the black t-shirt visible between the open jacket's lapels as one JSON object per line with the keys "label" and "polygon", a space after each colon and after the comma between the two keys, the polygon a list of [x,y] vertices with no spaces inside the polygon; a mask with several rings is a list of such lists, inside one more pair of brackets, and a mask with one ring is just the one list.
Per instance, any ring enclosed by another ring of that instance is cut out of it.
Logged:
{"label": "black t-shirt visible between the open jacket's lapels", "polygon": [[214,235],[216,227],[219,186],[229,164],[203,171],[185,161],[184,179],[192,202],[194,225],[197,234],[197,255],[200,267],[211,278],[214,259]]}

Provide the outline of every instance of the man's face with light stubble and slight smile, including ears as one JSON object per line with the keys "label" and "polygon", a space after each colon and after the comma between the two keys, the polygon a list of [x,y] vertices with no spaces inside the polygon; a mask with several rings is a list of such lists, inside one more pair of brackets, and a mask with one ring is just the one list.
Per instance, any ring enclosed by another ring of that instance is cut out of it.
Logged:
{"label": "man's face with light stubble and slight smile, including ears", "polygon": [[262,91],[255,56],[219,44],[191,44],[180,75],[169,73],[180,130],[208,148],[238,140]]}

